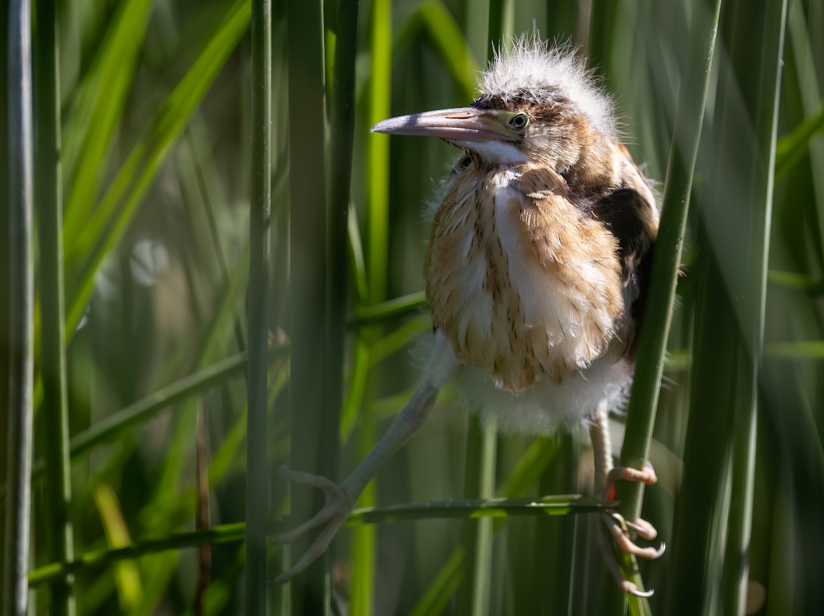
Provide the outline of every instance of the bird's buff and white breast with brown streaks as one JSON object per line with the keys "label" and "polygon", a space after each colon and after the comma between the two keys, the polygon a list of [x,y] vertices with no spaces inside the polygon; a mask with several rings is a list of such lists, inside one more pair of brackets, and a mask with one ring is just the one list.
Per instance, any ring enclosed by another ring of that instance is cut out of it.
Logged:
{"label": "bird's buff and white breast with brown streaks", "polygon": [[514,393],[584,371],[625,325],[616,239],[565,190],[531,166],[471,166],[435,214],[433,325],[461,362]]}

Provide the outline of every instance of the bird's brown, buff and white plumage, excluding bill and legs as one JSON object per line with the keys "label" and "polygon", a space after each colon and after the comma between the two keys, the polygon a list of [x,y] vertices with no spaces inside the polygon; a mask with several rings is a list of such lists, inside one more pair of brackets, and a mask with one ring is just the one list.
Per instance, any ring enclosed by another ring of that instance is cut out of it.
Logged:
{"label": "bird's brown, buff and white plumage, excluding bill and legs", "polygon": [[574,54],[517,41],[471,107],[530,121],[503,143],[447,139],[467,149],[424,262],[433,327],[466,366],[457,380],[473,407],[545,432],[604,397],[620,403],[658,210]]}

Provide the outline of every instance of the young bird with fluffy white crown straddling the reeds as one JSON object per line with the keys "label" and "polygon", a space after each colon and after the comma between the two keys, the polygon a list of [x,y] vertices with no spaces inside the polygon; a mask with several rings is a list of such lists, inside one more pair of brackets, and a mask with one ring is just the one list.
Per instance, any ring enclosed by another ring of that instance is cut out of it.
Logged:
{"label": "young bird with fluffy white crown straddling the reeds", "polygon": [[[463,150],[435,212],[424,260],[433,348],[423,385],[368,457],[341,484],[283,469],[325,492],[315,517],[287,543],[325,525],[286,581],[328,547],[358,495],[417,432],[438,390],[458,389],[503,430],[589,427],[597,496],[618,479],[655,483],[651,466],[613,468],[607,415],[624,402],[634,368],[658,206],[620,143],[611,101],[573,51],[536,35],[513,41],[480,79],[470,106],[387,119],[372,132],[438,137]],[[625,552],[640,548],[644,520],[602,515],[604,535]],[[619,572],[605,537],[606,564]]]}

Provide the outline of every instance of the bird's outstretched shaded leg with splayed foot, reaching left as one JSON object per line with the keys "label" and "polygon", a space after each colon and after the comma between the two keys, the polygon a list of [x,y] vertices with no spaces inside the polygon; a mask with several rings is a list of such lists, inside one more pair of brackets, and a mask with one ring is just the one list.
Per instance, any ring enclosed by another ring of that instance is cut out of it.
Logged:
{"label": "bird's outstretched shaded leg with splayed foot, reaching left", "polygon": [[363,488],[366,488],[367,483],[377,474],[386,460],[395,455],[406,444],[406,441],[409,441],[414,433],[424,426],[437,398],[438,388],[430,383],[424,384],[391,422],[386,434],[372,448],[369,455],[358,464],[358,467],[343,483],[337,484],[320,475],[302,473],[285,467],[280,469],[280,474],[290,481],[321,490],[325,495],[325,504],[311,520],[280,535],[275,539],[276,543],[289,544],[316,526],[325,525],[325,528],[317,535],[302,558],[288,572],[283,572],[275,579],[276,583],[291,580],[326,551],[332,539],[335,539],[335,534],[349,517]]}

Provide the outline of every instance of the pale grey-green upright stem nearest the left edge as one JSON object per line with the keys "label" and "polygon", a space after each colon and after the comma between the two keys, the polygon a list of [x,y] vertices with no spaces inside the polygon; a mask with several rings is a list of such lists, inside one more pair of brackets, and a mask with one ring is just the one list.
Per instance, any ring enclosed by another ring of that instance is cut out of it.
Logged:
{"label": "pale grey-green upright stem nearest the left edge", "polygon": [[[28,604],[31,421],[34,369],[34,273],[31,259],[31,16],[27,0],[8,5],[8,215],[10,265],[7,511],[3,545],[3,616],[26,616]],[[3,375],[6,376],[6,375]]]}

